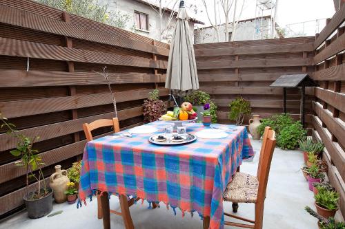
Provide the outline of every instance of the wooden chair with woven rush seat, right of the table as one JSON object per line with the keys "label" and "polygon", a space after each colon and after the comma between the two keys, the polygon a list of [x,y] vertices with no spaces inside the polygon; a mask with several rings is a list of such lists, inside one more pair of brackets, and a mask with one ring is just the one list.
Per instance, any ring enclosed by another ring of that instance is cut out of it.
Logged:
{"label": "wooden chair with woven rush seat, right of the table", "polygon": [[233,181],[226,186],[224,192],[224,200],[233,203],[253,203],[255,204],[255,220],[245,219],[237,215],[230,215],[224,212],[224,215],[233,217],[252,224],[235,223],[225,221],[228,226],[241,228],[262,229],[262,221],[264,217],[264,201],[266,198],[266,187],[268,182],[268,174],[270,173],[270,162],[272,161],[273,151],[275,150],[275,131],[270,127],[265,128],[260,151],[259,165],[257,168],[257,176],[248,175],[246,173],[235,173]]}

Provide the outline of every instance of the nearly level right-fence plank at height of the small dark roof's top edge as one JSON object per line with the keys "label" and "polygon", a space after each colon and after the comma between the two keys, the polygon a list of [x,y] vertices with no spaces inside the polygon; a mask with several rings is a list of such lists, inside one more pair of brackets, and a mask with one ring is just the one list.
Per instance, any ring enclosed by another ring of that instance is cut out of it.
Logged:
{"label": "nearly level right-fence plank at height of the small dark roof's top edge", "polygon": [[345,80],[345,63],[314,72],[314,80]]}

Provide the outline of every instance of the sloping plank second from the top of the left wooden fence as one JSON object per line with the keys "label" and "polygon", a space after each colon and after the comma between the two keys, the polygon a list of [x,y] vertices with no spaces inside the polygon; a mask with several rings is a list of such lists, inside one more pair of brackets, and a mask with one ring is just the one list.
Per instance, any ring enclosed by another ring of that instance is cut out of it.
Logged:
{"label": "sloping plank second from the top of the left wooden fence", "polygon": [[16,8],[10,8],[1,4],[0,22],[9,25],[16,25],[21,28],[48,32],[50,34],[59,34],[76,39],[83,39],[86,41],[94,41],[107,45],[125,47],[131,50],[140,50],[143,52],[150,52],[163,56],[168,56],[169,54],[169,50],[164,47],[157,47],[135,40],[124,39],[118,34],[92,30],[81,25],[65,23],[63,21],[58,21],[49,17],[42,17],[38,14],[32,14],[31,12],[19,10]]}

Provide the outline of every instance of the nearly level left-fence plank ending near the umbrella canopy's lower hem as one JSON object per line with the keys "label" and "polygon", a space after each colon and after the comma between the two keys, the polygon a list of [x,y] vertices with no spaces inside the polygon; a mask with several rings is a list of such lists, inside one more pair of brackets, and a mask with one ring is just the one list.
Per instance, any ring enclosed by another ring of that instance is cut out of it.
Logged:
{"label": "nearly level left-fence plank ending near the umbrella canopy's lower hem", "polygon": [[[112,74],[112,84],[164,83],[165,74]],[[95,72],[50,72],[25,70],[0,70],[0,87],[41,87],[66,85],[104,85],[106,80]]]}

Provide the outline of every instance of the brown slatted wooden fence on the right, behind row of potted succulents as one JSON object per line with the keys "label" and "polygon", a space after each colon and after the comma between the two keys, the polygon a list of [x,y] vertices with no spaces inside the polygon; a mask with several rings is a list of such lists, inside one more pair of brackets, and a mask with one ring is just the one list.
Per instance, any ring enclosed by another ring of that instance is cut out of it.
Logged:
{"label": "brown slatted wooden fence on the right, behind row of potted succulents", "polygon": [[328,164],[328,178],[340,194],[340,207],[345,217],[345,4],[317,35],[313,49],[315,56],[313,78],[315,87],[312,117],[313,136],[324,142],[324,159]]}

